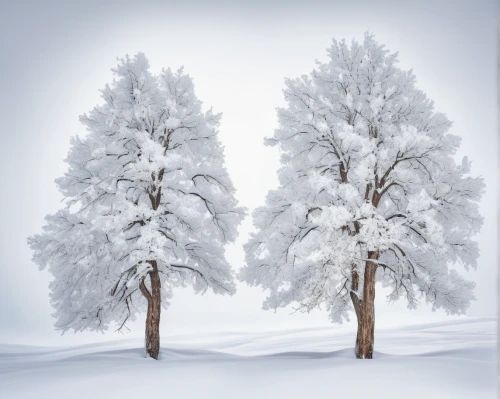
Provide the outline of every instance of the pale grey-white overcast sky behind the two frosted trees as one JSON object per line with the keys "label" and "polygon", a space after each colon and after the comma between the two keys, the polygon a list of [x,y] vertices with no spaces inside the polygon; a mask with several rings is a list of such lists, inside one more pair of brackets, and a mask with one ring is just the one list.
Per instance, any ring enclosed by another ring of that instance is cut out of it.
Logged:
{"label": "pale grey-white overcast sky behind the two frosted trees", "polygon": [[[263,145],[284,105],[285,77],[326,60],[333,37],[362,40],[370,31],[463,138],[460,156],[486,181],[485,222],[478,236],[477,301],[470,316],[495,316],[497,305],[496,16],[493,0],[476,1],[3,1],[0,6],[0,342],[62,345],[116,339],[53,330],[50,276],[31,261],[29,235],[61,206],[54,179],[66,170],[78,116],[101,103],[117,57],[142,51],[153,72],[182,65],[205,108],[222,112],[220,138],[240,203],[263,204],[277,184],[279,153]],[[269,4],[268,4],[269,3]],[[228,259],[243,264],[247,218]],[[177,290],[162,313],[162,333],[269,330],[329,325],[326,311],[290,315],[261,310],[265,294],[238,285],[233,297]],[[423,304],[387,304],[377,291],[377,327],[447,317]],[[144,316],[128,337],[142,336]]]}

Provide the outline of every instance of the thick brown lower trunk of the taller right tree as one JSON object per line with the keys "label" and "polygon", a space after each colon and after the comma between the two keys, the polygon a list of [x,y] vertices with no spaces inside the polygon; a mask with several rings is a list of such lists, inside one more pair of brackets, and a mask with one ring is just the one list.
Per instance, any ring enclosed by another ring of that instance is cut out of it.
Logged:
{"label": "thick brown lower trunk of the taller right tree", "polygon": [[[377,260],[378,252],[368,252],[368,259]],[[358,359],[371,359],[373,357],[376,271],[377,264],[367,261],[363,283],[363,300],[360,304],[360,314],[358,316],[358,334],[356,338],[356,357]]]}

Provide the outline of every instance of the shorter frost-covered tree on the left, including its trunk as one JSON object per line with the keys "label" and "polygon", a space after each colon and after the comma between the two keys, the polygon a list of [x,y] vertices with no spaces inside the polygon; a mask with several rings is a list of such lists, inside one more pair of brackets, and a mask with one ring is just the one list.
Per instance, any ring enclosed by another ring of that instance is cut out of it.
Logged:
{"label": "shorter frost-covered tree on the left, including its trunk", "polygon": [[56,180],[65,207],[28,242],[54,277],[58,329],[121,330],[147,309],[146,353],[157,359],[173,287],[234,293],[224,245],[244,210],[224,167],[220,115],[202,112],[191,78],[153,75],[141,53],[113,72]]}

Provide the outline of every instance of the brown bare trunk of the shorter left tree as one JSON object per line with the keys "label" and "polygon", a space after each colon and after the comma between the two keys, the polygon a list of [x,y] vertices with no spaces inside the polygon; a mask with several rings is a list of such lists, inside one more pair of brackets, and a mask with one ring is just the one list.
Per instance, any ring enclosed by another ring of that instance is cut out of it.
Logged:
{"label": "brown bare trunk of the shorter left tree", "polygon": [[149,263],[153,266],[153,270],[149,272],[151,292],[149,292],[144,284],[144,280],[140,283],[141,292],[148,300],[145,338],[146,356],[158,360],[160,353],[161,281],[156,261],[152,260]]}

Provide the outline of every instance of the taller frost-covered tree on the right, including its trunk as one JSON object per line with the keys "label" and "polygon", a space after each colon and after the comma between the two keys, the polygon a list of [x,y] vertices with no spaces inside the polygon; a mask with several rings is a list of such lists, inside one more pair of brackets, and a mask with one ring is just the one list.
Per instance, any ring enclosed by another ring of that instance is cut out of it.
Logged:
{"label": "taller frost-covered tree on the right, including its trunk", "polygon": [[376,282],[461,314],[474,283],[481,178],[454,154],[451,123],[415,87],[415,76],[366,34],[333,41],[327,63],[286,80],[278,110],[279,187],[254,212],[239,277],[270,294],[264,308],[324,304],[333,322],[358,320],[356,356],[371,358]]}

